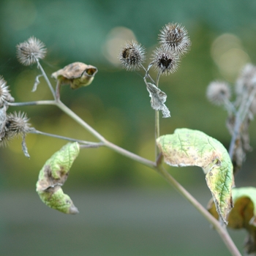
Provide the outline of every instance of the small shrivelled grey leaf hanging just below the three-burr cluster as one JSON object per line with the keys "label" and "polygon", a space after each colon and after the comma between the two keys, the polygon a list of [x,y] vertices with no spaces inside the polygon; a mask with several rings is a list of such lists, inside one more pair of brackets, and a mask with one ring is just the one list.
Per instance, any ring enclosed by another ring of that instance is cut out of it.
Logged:
{"label": "small shrivelled grey leaf hanging just below the three-burr cluster", "polygon": [[167,95],[161,91],[153,83],[146,83],[149,97],[151,97],[151,108],[154,110],[161,110],[162,117],[170,117],[170,111],[165,106]]}

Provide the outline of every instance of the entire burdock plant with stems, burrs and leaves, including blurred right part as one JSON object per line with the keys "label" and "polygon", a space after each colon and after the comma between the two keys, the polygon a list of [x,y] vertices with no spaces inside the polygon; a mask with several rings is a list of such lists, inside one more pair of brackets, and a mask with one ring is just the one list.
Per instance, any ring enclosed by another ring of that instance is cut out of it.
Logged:
{"label": "entire burdock plant with stems, burrs and leaves, including blurred right part", "polygon": [[[26,42],[17,45],[18,60],[25,66],[37,65],[40,74],[35,78],[32,91],[37,90],[40,82],[39,78],[43,77],[48,84],[53,99],[34,102],[14,102],[7,82],[3,77],[0,77],[0,146],[7,146],[12,138],[21,136],[23,138],[23,152],[26,157],[29,157],[29,150],[26,147],[25,141],[26,135],[29,133],[69,141],[67,145],[60,148],[59,151],[45,162],[45,165],[39,171],[36,186],[37,193],[43,203],[65,214],[78,213],[78,208],[75,207],[71,198],[64,194],[61,187],[67,180],[72,163],[79,156],[80,150],[83,148],[108,147],[118,154],[122,154],[133,161],[150,167],[165,178],[211,223],[232,255],[240,255],[240,252],[238,252],[236,245],[227,233],[225,226],[238,227],[239,218],[241,221],[241,218],[246,215],[242,219],[242,224],[239,222],[241,224],[239,227],[249,230],[249,241],[246,244],[249,248],[247,252],[255,252],[256,211],[254,210],[255,206],[253,203],[255,202],[256,192],[253,189],[242,189],[239,192],[232,188],[235,184],[233,165],[236,171],[240,170],[246,151],[250,148],[248,126],[256,109],[256,68],[252,65],[246,66],[237,82],[235,102],[230,102],[231,93],[227,83],[218,81],[208,86],[208,99],[216,105],[223,105],[227,109],[227,127],[232,135],[229,151],[218,140],[197,130],[176,129],[173,134],[160,136],[159,111],[162,112],[162,117],[170,118],[170,110],[165,105],[167,95],[159,89],[159,80],[162,75],[171,75],[178,70],[181,59],[184,58],[191,48],[191,42],[187,30],[178,23],[168,23],[163,26],[159,32],[158,41],[159,45],[151,53],[147,67],[144,66],[146,62],[146,49],[138,42],[127,42],[121,47],[118,56],[121,65],[125,69],[144,72],[143,83],[151,98],[151,108],[155,111],[156,155],[154,161],[140,157],[111,143],[104,135],[97,132],[61,102],[61,86],[68,84],[71,89],[89,86],[94,80],[98,69],[81,62],[69,64],[63,69],[53,72],[51,76],[56,80],[56,86],[53,88],[48,75],[46,75],[39,62],[45,58],[47,53],[45,44],[35,37],[30,37]],[[151,73],[152,68],[156,71],[156,78],[154,78],[155,73]],[[74,138],[48,134],[39,131],[35,127],[31,127],[26,113],[7,112],[9,106],[18,107],[24,105],[54,105],[80,124],[98,141],[76,140]],[[208,206],[212,215],[165,170],[165,167],[162,165],[163,162],[176,167],[195,165],[203,169],[203,172],[206,174],[206,184],[212,195],[211,203]],[[246,204],[243,200],[244,197],[249,197],[251,200],[246,200],[247,203],[249,202],[249,210],[241,212],[241,208],[239,208],[241,204],[237,205],[237,202]],[[235,207],[233,208],[233,206]]]}

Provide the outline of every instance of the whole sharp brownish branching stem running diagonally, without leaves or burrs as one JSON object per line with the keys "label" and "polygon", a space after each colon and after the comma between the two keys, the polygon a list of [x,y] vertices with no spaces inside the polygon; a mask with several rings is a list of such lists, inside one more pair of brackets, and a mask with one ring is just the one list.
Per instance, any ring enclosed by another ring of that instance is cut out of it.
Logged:
{"label": "whole sharp brownish branching stem running diagonally, without leaves or burrs", "polygon": [[[122,154],[125,157],[129,157],[129,159],[132,159],[136,162],[140,162],[143,165],[146,165],[150,167],[151,169],[154,169],[159,173],[165,180],[167,180],[168,183],[170,183],[176,190],[178,190],[181,195],[183,195],[192,205],[197,208],[198,211],[205,217],[208,222],[210,222],[214,228],[219,233],[219,236],[221,236],[222,240],[227,246],[227,249],[229,249],[230,253],[233,256],[241,256],[240,252],[238,252],[238,249],[236,248],[236,245],[233,243],[232,239],[230,238],[229,234],[227,233],[227,230],[225,227],[222,227],[220,222],[217,221],[211,214],[208,213],[206,208],[204,208],[197,200],[195,200],[192,195],[187,192],[184,187],[181,186],[181,184],[176,181],[176,179],[173,178],[173,176],[170,175],[170,173],[167,173],[164,167],[162,167],[162,155],[158,154],[158,148],[156,149],[157,156],[156,156],[156,162],[152,162],[148,159],[145,159],[143,157],[138,156],[137,154],[134,154],[130,151],[127,151],[124,148],[121,148],[119,146],[116,146],[113,143],[110,143],[110,141],[106,140],[102,135],[99,134],[94,128],[92,128],[89,124],[86,123],[86,121],[83,121],[82,118],[80,118],[77,114],[75,114],[72,110],[70,110],[66,105],[64,105],[59,97],[59,86],[56,88],[56,92],[53,90],[53,86],[51,86],[50,81],[48,80],[47,75],[45,74],[45,71],[42,69],[41,65],[39,64],[39,61],[37,61],[39,69],[41,69],[42,75],[44,76],[46,82],[48,83],[48,86],[50,88],[50,91],[53,94],[54,100],[43,100],[43,101],[37,101],[37,102],[18,102],[18,103],[10,103],[10,106],[29,106],[29,105],[56,105],[58,108],[60,108],[64,113],[66,113],[68,116],[70,116],[73,120],[75,120],[78,124],[80,124],[84,129],[86,129],[88,132],[91,133],[91,135],[94,135],[95,138],[99,140],[99,143],[93,143],[89,141],[84,140],[75,140],[72,138],[67,138],[59,135],[50,135],[46,132],[39,132],[36,129],[31,129],[31,133],[36,133],[40,135],[48,135],[54,138],[61,138],[64,140],[70,140],[70,141],[78,141],[78,143],[83,144],[81,147],[96,147],[96,146],[107,146],[108,148],[112,149],[113,151],[118,152],[118,154]],[[144,77],[144,81],[146,82],[146,78],[151,79],[151,81],[154,80],[149,76],[148,71],[152,67],[152,64],[148,65],[148,69],[146,70],[146,75]],[[145,69],[145,68],[144,68]],[[155,83],[158,86],[159,82],[159,75],[157,75],[157,83]],[[256,90],[255,90],[256,93]],[[249,108],[249,107],[248,107]],[[158,115],[157,115],[158,113]],[[238,122],[238,121],[237,121]],[[155,136],[156,138],[159,137],[159,111],[156,111],[156,121],[155,121]],[[239,126],[240,127],[240,126]],[[235,135],[236,131],[234,131]],[[233,136],[234,136],[233,135]],[[236,138],[235,138],[236,139]]]}

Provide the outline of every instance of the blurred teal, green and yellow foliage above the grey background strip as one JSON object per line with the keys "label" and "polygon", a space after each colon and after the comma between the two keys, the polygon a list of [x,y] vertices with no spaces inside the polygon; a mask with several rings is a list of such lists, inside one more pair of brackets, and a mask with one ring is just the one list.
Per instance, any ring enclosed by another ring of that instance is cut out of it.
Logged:
{"label": "blurred teal, green and yellow foliage above the grey background strip", "polygon": [[[218,78],[232,83],[241,64],[256,62],[255,10],[255,1],[249,0],[1,1],[0,74],[10,85],[16,102],[51,99],[42,78],[37,91],[31,93],[37,68],[23,67],[15,57],[15,45],[31,36],[42,40],[48,48],[42,66],[49,76],[75,61],[94,65],[99,70],[94,83],[79,91],[63,86],[61,99],[108,140],[154,159],[154,111],[143,72],[121,69],[117,64],[118,50],[126,39],[137,39],[146,47],[149,59],[157,45],[159,29],[166,23],[178,22],[186,27],[192,48],[176,73],[160,78],[159,87],[167,94],[165,104],[172,116],[161,119],[161,134],[181,127],[199,129],[228,146],[225,111],[207,102],[206,86]],[[53,79],[51,82],[55,84]],[[9,110],[25,111],[31,124],[44,132],[94,140],[53,106]],[[251,129],[255,129],[255,124]],[[255,136],[252,134],[252,146]],[[22,178],[20,186],[31,186],[37,180],[35,170],[40,170],[45,160],[66,143],[39,135],[28,135],[26,142],[30,160],[23,157],[20,140],[0,148],[3,184],[19,186]],[[67,186],[165,184],[147,167],[108,148],[81,151],[73,168]],[[195,176],[187,172],[180,179],[196,183],[199,172]],[[244,178],[252,177],[255,174],[247,173]],[[200,178],[203,182],[203,175]]]}

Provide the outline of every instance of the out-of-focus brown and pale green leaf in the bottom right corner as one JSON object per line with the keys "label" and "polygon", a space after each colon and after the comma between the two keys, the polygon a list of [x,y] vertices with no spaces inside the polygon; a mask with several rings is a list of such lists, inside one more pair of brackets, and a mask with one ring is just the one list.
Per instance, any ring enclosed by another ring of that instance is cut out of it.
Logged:
{"label": "out-of-focus brown and pale green leaf in the bottom right corner", "polygon": [[[241,187],[232,189],[234,207],[228,215],[227,227],[233,229],[246,229],[247,237],[244,249],[248,255],[256,253],[256,188]],[[212,200],[208,203],[208,211],[216,219],[218,214]]]}

